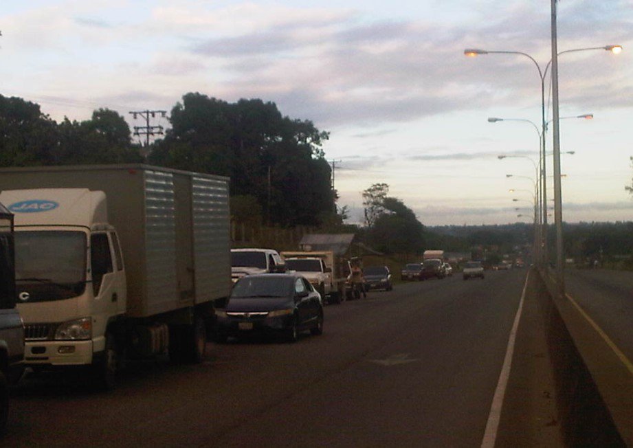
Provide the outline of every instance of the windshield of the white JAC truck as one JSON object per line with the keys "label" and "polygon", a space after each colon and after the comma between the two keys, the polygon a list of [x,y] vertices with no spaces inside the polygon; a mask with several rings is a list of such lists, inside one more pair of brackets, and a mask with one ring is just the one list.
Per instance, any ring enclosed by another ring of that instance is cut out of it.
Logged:
{"label": "windshield of the white JAC truck", "polygon": [[83,232],[15,232],[18,302],[76,297],[86,287],[87,243]]}

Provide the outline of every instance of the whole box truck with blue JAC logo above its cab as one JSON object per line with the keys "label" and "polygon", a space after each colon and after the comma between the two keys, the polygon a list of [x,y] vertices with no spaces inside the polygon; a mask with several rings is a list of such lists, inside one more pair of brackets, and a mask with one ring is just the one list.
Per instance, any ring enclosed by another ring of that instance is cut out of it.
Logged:
{"label": "whole box truck with blue JAC logo above its cab", "polygon": [[198,362],[231,288],[228,179],[146,165],[0,170],[15,216],[25,363],[85,366],[111,388],[125,358]]}

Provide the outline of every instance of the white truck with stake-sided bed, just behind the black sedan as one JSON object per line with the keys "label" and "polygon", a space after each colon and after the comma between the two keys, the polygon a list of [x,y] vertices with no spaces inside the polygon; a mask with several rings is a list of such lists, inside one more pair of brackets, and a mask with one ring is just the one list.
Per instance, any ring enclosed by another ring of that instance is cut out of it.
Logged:
{"label": "white truck with stake-sided bed, just behind the black sedan", "polygon": [[340,265],[345,261],[337,260],[333,251],[286,251],[281,254],[286,260],[286,268],[307,278],[323,300],[342,302],[346,276]]}

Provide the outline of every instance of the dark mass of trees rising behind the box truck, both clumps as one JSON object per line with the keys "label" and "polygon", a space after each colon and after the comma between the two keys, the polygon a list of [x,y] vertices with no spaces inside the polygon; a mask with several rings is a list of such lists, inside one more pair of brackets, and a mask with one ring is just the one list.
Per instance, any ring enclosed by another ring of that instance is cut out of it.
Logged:
{"label": "dark mass of trees rising behind the box truck, both clumps", "polygon": [[165,138],[144,148],[145,159],[116,111],[57,123],[38,104],[0,96],[0,166],[147,161],[230,177],[231,196],[249,204],[239,208],[241,217],[249,210],[249,219],[290,227],[340,221],[322,149],[329,134],[311,121],[282,115],[274,102],[187,93],[170,122]]}

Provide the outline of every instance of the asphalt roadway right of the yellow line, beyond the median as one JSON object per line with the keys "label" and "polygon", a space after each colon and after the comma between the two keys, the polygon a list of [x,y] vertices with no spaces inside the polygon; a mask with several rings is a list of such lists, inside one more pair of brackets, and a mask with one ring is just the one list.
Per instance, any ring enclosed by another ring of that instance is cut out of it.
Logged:
{"label": "asphalt roadway right of the yellow line, beyond the median", "polygon": [[567,269],[568,294],[633,361],[633,272]]}

